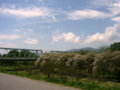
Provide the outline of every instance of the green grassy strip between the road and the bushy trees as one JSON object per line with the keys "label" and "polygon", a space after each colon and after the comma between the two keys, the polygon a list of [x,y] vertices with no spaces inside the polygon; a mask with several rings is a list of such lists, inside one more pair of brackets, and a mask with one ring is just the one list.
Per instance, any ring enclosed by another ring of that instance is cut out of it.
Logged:
{"label": "green grassy strip between the road and the bushy trees", "polygon": [[80,78],[76,82],[76,79],[71,77],[64,77],[64,79],[61,80],[56,74],[52,74],[50,78],[47,78],[47,75],[42,73],[40,69],[35,69],[34,65],[0,66],[0,72],[75,87],[82,90],[120,90],[120,83],[111,81]]}

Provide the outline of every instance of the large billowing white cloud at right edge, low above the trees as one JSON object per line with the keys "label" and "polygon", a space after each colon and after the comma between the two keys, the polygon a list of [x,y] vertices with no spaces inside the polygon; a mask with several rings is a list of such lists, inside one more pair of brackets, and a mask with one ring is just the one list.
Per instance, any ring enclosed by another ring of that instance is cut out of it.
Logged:
{"label": "large billowing white cloud at right edge, low above the trees", "polygon": [[117,32],[120,24],[115,24],[113,27],[107,27],[105,33],[96,33],[92,36],[88,36],[84,41],[84,44],[88,43],[102,43],[102,42],[112,42],[120,39],[120,33]]}

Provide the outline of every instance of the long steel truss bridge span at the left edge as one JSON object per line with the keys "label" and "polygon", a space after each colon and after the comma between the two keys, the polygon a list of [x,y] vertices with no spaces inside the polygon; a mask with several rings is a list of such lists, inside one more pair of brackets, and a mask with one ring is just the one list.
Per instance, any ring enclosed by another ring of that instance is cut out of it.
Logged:
{"label": "long steel truss bridge span at the left edge", "polygon": [[0,61],[35,61],[42,50],[0,47]]}

